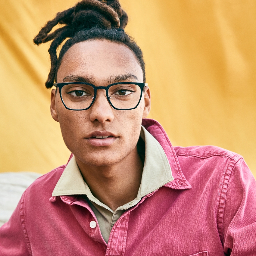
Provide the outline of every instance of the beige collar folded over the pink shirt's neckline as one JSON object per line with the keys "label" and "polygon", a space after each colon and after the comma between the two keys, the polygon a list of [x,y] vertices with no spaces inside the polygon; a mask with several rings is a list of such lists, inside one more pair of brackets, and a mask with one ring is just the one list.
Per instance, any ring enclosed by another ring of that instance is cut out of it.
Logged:
{"label": "beige collar folded over the pink shirt's neckline", "polygon": [[[130,208],[137,204],[143,196],[173,180],[169,161],[159,142],[143,126],[141,126],[140,136],[145,141],[145,161],[138,195],[133,201],[117,209]],[[52,196],[60,195],[87,195],[89,200],[113,212],[92,195],[88,185],[83,180],[74,156],[68,162],[52,192]]]}

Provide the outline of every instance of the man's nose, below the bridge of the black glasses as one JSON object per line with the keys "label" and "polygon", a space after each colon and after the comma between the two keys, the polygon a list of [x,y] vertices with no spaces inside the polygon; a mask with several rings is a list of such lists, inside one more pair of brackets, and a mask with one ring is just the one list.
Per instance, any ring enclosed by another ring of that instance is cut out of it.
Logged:
{"label": "man's nose, below the bridge of the black glasses", "polygon": [[93,102],[90,113],[90,121],[98,121],[100,123],[112,122],[114,120],[113,108],[109,104],[104,89],[97,90],[96,99]]}

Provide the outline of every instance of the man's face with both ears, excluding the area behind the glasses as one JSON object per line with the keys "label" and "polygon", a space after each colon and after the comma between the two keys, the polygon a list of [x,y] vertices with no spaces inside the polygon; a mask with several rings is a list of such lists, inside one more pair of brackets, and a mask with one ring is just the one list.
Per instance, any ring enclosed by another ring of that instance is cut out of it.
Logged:
{"label": "man's face with both ears, excluding the area behind the glasses", "polygon": [[[143,82],[142,69],[134,53],[123,44],[107,40],[80,42],[66,52],[57,82],[82,82],[79,77],[95,86],[107,86],[116,82],[115,78],[118,82]],[[136,147],[142,118],[149,110],[147,87],[139,106],[132,110],[112,108],[104,89],[97,91],[95,102],[88,110],[68,110],[59,91],[55,95],[55,89],[52,90],[51,114],[60,123],[64,142],[76,158],[90,166],[116,164],[129,155]],[[92,138],[101,135],[111,137]]]}

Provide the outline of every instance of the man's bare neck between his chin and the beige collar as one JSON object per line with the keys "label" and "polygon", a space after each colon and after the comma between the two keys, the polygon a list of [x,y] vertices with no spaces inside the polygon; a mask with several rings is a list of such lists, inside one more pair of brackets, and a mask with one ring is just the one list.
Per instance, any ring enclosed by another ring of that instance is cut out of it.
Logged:
{"label": "man's bare neck between his chin and the beige collar", "polygon": [[137,147],[111,166],[89,166],[77,158],[76,162],[92,194],[113,211],[137,197],[143,170]]}

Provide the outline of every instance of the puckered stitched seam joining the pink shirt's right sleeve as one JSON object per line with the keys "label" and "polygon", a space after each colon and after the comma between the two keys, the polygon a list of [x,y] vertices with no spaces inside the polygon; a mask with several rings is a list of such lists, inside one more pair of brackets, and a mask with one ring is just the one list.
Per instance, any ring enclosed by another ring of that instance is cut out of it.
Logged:
{"label": "puckered stitched seam joining the pink shirt's right sleeve", "polygon": [[233,168],[235,166],[235,164],[242,159],[242,156],[240,155],[234,155],[233,158],[230,159],[228,166],[226,168],[225,173],[223,173],[222,177],[221,177],[221,188],[219,189],[219,204],[217,207],[217,229],[219,232],[219,236],[220,236],[220,240],[223,244],[223,218],[224,218],[224,211],[225,211],[225,204],[226,204],[226,195],[227,195],[227,188],[228,188],[228,184],[229,184],[229,179],[231,177],[231,173],[233,171]]}

